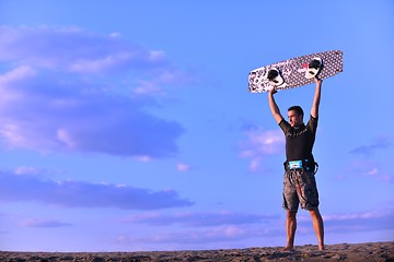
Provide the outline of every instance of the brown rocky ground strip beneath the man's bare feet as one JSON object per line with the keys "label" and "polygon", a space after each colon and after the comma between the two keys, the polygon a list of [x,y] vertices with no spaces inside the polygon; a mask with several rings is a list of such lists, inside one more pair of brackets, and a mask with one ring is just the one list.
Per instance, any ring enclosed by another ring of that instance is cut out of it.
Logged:
{"label": "brown rocky ground strip beneath the man's bare feet", "polygon": [[247,248],[197,251],[152,251],[152,252],[7,252],[0,251],[0,261],[63,261],[63,262],[259,262],[259,261],[385,261],[394,262],[394,241],[370,243],[328,245],[325,251],[316,246],[300,246],[293,251],[282,248]]}

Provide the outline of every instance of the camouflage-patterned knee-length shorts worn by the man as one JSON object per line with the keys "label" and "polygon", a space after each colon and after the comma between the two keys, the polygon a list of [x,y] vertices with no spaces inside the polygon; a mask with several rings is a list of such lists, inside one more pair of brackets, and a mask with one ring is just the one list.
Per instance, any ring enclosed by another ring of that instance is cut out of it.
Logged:
{"label": "camouflage-patterned knee-length shorts worn by the man", "polygon": [[288,170],[283,176],[283,209],[298,211],[318,206],[318,192],[313,171]]}

